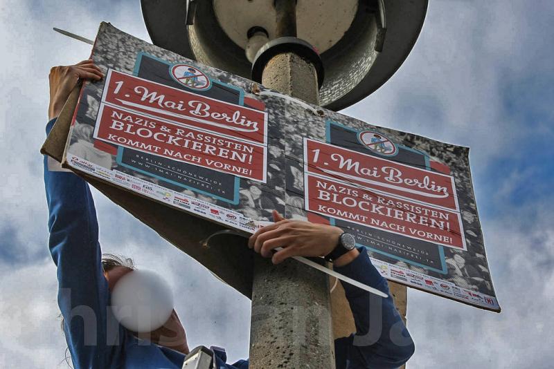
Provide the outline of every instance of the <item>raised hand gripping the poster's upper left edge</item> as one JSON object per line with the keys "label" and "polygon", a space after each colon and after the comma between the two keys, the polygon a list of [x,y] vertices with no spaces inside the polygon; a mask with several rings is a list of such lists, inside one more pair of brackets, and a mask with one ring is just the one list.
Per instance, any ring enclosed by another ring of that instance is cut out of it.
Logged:
{"label": "raised hand gripping the poster's upper left edge", "polygon": [[104,77],[92,59],[80,61],[74,66],[54,66],[50,70],[50,104],[48,104],[48,120],[51,120],[62,111],[67,97],[80,78],[98,81]]}

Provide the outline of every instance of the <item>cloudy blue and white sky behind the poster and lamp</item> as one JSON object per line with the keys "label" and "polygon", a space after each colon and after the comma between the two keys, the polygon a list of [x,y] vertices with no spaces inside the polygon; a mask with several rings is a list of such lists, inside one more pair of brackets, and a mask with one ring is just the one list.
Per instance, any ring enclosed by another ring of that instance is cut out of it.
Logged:
{"label": "cloudy blue and white sky behind the poster and lamp", "polygon": [[[410,368],[551,368],[554,361],[554,3],[431,1],[402,68],[343,113],[471,147],[501,314],[409,291]],[[86,59],[100,21],[150,41],[138,0],[0,0],[0,367],[67,368],[46,240],[48,70]],[[250,303],[94,193],[105,252],[163,270],[190,347],[247,357]],[[202,290],[202,295],[199,294]],[[208,293],[206,293],[208,292]]]}

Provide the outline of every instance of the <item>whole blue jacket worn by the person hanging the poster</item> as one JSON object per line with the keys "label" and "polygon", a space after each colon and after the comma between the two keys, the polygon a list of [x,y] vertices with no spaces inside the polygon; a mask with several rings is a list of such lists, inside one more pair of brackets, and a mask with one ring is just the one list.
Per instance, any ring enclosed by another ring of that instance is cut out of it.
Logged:
{"label": "whole blue jacket worn by the person hanging the poster", "polygon": [[[46,133],[54,122],[48,122]],[[137,339],[111,314],[96,210],[87,182],[73,173],[49,171],[45,157],[44,185],[49,210],[48,247],[57,266],[57,301],[75,368],[180,369],[184,354]],[[366,252],[334,269],[388,293],[386,280]],[[346,283],[343,286],[357,333],[335,341],[337,369],[401,366],[413,354],[414,346],[392,297],[381,299]],[[216,351],[216,356],[217,369],[248,368],[247,360],[227,364],[224,353]]]}

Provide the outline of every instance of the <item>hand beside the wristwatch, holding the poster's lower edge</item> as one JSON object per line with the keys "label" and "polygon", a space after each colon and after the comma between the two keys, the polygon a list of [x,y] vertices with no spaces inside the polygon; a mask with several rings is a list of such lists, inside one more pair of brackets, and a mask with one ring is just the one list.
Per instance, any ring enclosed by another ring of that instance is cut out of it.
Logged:
{"label": "hand beside the wristwatch, holding the poster's lower edge", "polygon": [[[287,220],[275,210],[273,217],[275,223],[258,229],[249,238],[248,246],[266,258],[271,257],[274,264],[291,256],[325,256],[337,247],[339,236],[343,233],[342,229],[332,225]],[[276,247],[283,249],[272,254]]]}

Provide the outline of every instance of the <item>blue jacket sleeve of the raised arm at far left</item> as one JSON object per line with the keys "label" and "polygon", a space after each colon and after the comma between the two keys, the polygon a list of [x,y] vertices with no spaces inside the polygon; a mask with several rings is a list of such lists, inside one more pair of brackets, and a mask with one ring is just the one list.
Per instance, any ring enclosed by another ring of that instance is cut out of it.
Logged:
{"label": "blue jacket sleeve of the raised arm at far left", "polygon": [[[48,133],[55,120],[48,122]],[[57,266],[57,301],[75,368],[108,368],[118,360],[123,336],[108,312],[109,290],[103,274],[96,210],[87,182],[67,171],[48,170],[48,247]]]}

